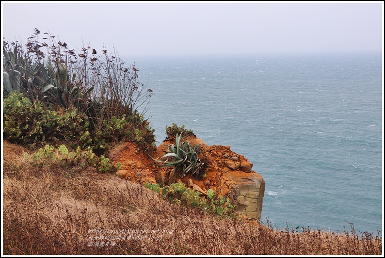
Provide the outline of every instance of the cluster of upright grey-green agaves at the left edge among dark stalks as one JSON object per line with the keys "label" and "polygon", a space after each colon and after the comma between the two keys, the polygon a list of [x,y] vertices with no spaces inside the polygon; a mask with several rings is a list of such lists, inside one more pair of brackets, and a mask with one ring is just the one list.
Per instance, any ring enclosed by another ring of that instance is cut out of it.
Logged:
{"label": "cluster of upright grey-green agaves at the left edge among dark stalks", "polygon": [[69,75],[67,61],[62,60],[61,56],[54,55],[44,59],[42,51],[30,49],[32,45],[42,47],[36,41],[29,40],[26,44],[29,50],[26,52],[17,42],[3,42],[4,92],[9,94],[16,90],[32,101],[43,100],[64,108],[75,107],[84,112],[85,101],[93,87],[83,89],[80,76],[75,72],[71,73],[72,76]]}

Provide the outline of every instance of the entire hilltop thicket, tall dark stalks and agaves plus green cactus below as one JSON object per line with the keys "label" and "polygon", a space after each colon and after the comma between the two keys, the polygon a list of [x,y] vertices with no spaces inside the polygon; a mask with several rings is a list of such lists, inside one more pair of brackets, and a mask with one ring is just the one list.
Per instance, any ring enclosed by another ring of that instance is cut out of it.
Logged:
{"label": "entire hilltop thicket, tall dark stalks and agaves plus green cactus below", "polygon": [[[122,140],[154,150],[154,130],[144,119],[152,90],[137,81],[135,65],[125,66],[114,50],[80,53],[40,31],[26,49],[3,41],[3,134],[36,148],[66,143],[92,148],[99,157]],[[138,109],[141,108],[140,113]]]}

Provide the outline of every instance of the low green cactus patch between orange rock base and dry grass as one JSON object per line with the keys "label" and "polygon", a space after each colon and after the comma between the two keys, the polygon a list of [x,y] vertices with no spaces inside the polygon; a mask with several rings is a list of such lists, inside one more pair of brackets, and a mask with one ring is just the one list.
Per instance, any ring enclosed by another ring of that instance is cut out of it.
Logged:
{"label": "low green cactus patch between orange rock base and dry grass", "polygon": [[182,182],[171,184],[160,188],[158,184],[146,183],[145,187],[161,194],[163,199],[168,200],[172,204],[184,205],[189,208],[197,208],[205,212],[217,214],[222,218],[237,217],[236,208],[230,204],[230,200],[226,196],[218,197],[212,189],[209,189],[208,198],[202,196],[198,191],[186,188]]}

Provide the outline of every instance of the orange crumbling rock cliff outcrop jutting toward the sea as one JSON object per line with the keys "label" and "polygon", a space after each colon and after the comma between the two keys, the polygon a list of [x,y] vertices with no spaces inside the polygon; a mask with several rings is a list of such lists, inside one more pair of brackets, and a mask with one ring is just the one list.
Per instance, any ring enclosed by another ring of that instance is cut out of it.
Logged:
{"label": "orange crumbling rock cliff outcrop jutting toward the sea", "polygon": [[[205,177],[197,178],[188,175],[181,181],[196,191],[207,196],[212,189],[218,196],[225,195],[232,205],[237,206],[237,212],[248,219],[260,221],[262,212],[265,181],[262,176],[252,170],[253,163],[243,155],[231,151],[230,146],[206,145],[204,141],[190,136],[184,141],[191,145],[199,144],[204,150],[208,169]],[[161,158],[168,150],[171,141],[165,141],[158,146],[155,156]],[[153,160],[139,153],[133,143],[125,143],[117,147],[112,161],[120,162],[122,169],[117,171],[119,177],[144,185],[160,183],[169,185],[176,181],[173,168],[160,168],[151,163]],[[155,157],[154,156],[154,157]]]}

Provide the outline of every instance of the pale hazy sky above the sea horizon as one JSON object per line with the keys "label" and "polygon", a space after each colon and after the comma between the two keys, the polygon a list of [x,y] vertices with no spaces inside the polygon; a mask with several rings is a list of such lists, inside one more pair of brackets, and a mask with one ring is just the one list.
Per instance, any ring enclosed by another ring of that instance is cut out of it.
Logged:
{"label": "pale hazy sky above the sea horizon", "polygon": [[17,3],[1,2],[2,33],[22,40],[36,27],[69,48],[82,39],[120,55],[382,51],[381,2]]}

